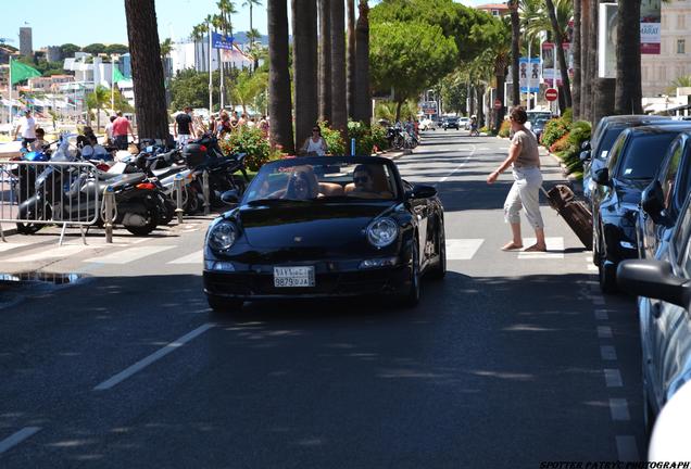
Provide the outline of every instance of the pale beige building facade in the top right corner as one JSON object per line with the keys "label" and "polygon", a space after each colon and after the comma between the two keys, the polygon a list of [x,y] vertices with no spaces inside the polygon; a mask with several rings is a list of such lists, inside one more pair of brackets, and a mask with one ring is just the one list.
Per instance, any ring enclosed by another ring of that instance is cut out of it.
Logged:
{"label": "pale beige building facade in the top right corner", "polygon": [[691,0],[662,3],[661,53],[641,55],[644,97],[667,94],[679,77],[691,75]]}

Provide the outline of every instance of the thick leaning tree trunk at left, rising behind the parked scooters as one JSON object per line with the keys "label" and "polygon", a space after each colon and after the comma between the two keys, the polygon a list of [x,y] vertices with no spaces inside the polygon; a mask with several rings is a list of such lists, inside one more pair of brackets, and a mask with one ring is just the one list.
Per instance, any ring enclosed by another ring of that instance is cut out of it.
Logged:
{"label": "thick leaning tree trunk at left, rising behind the parked scooters", "polygon": [[125,17],[139,140],[166,140],[168,114],[154,0],[125,0]]}

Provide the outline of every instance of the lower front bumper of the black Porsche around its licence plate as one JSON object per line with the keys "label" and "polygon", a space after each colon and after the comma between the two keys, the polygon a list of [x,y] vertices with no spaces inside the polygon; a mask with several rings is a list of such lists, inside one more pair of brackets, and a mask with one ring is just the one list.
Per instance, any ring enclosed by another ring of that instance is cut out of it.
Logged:
{"label": "lower front bumper of the black Porsche around its licence plate", "polygon": [[370,269],[339,269],[334,268],[335,264],[300,263],[300,266],[314,265],[314,287],[286,288],[274,286],[273,265],[248,266],[233,263],[234,271],[204,269],[204,293],[252,301],[395,294],[410,288],[411,266],[407,264]]}

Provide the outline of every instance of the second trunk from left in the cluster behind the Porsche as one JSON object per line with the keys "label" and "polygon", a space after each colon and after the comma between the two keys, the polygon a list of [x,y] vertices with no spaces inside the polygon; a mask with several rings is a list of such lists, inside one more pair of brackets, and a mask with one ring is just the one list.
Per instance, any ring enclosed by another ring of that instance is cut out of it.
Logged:
{"label": "second trunk from left in the cluster behind the Porsche", "polygon": [[299,148],[312,135],[317,122],[316,0],[292,0],[292,77],[296,93],[296,142]]}

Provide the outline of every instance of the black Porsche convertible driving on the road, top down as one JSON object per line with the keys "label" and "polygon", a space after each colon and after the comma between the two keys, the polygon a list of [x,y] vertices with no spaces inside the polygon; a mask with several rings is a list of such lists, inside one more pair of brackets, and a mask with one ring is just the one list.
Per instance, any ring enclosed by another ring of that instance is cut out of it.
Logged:
{"label": "black Porsche convertible driving on the road, top down", "polygon": [[422,276],[445,274],[437,190],[402,180],[390,160],[271,162],[236,202],[206,232],[204,292],[214,310],[261,299],[367,294],[414,306]]}

